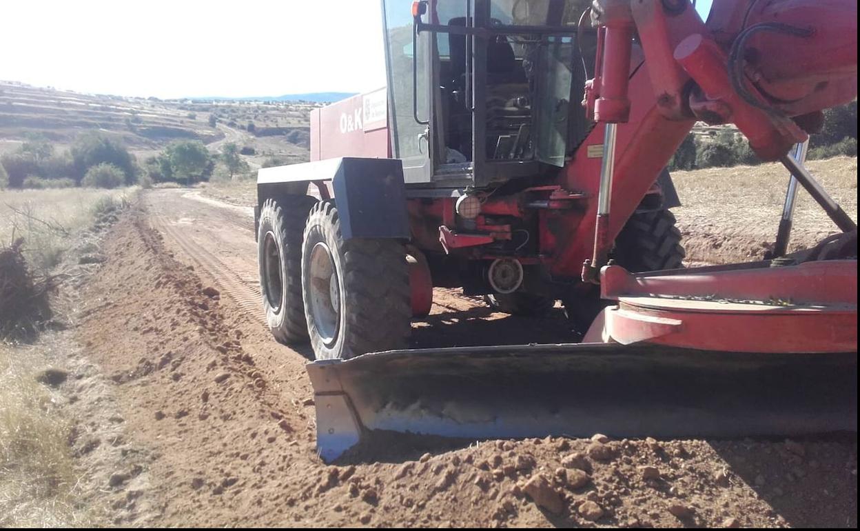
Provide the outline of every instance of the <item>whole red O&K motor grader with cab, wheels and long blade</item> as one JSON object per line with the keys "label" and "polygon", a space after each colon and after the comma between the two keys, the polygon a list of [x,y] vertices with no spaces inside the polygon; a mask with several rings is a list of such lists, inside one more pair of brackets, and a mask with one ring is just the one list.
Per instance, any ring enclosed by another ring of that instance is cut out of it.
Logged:
{"label": "whole red O&K motor grader with cab, wheels and long blade", "polygon": [[[821,110],[857,96],[855,1],[383,15],[387,88],[314,111],[312,162],[258,176],[263,305],[280,342],[310,339],[324,460],[375,430],[857,430],[857,225],[803,164]],[[665,167],[697,120],[789,170],[764,261],[681,268]],[[787,254],[799,187],[841,233]],[[582,336],[406,349],[433,287],[513,314],[562,300]]]}

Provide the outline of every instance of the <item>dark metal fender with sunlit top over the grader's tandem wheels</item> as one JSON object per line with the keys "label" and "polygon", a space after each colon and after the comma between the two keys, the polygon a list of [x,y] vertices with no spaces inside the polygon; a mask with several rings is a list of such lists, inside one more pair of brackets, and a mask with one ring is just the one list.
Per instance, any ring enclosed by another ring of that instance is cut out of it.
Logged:
{"label": "dark metal fender with sunlit top over the grader's tandem wheels", "polygon": [[281,194],[306,193],[311,182],[331,182],[344,239],[409,238],[400,160],[342,157],[263,168],[257,173],[257,206]]}

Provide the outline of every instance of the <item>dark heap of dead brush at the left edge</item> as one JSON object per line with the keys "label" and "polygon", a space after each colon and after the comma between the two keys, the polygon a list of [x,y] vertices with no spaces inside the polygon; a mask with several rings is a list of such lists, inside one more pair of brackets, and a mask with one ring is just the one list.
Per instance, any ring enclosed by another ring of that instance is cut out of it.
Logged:
{"label": "dark heap of dead brush at the left edge", "polygon": [[23,238],[0,248],[0,337],[31,337],[51,318],[48,281],[36,279],[22,255]]}

